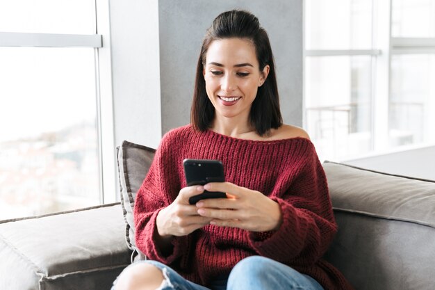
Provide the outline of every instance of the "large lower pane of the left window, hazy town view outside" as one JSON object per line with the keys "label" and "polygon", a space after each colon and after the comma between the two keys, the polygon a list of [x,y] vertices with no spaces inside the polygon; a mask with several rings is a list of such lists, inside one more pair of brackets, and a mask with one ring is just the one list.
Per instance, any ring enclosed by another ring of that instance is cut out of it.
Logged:
{"label": "large lower pane of the left window, hazy town view outside", "polygon": [[0,47],[0,219],[99,204],[91,48]]}

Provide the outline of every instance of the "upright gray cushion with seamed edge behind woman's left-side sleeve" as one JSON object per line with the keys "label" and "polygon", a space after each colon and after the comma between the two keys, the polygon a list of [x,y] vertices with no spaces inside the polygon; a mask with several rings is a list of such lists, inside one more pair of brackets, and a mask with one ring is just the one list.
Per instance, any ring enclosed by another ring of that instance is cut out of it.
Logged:
{"label": "upright gray cushion with seamed edge behind woman's left-side sleeve", "polygon": [[126,226],[125,239],[128,247],[133,250],[133,255],[131,255],[132,261],[136,257],[138,259],[144,258],[138,248],[136,248],[133,207],[136,193],[142,185],[145,175],[147,175],[149,166],[151,166],[154,152],[156,150],[152,148],[128,141],[122,142],[122,145],[117,147],[121,204]]}

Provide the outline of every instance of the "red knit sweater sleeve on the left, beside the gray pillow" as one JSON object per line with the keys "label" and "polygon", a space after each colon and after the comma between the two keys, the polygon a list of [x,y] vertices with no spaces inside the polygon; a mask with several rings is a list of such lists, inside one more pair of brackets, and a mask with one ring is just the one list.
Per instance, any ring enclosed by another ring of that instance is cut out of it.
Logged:
{"label": "red knit sweater sleeve on the left, beside the gray pillow", "polygon": [[[156,243],[158,231],[156,217],[158,212],[167,207],[177,196],[177,181],[173,179],[175,172],[164,172],[162,164],[169,162],[170,154],[167,152],[167,140],[162,139],[156,150],[156,155],[151,163],[147,177],[140,187],[134,205],[134,221],[136,227],[136,245],[148,259],[161,261],[171,265],[188,248],[188,237],[174,237],[172,239],[172,251],[163,253]],[[169,173],[169,174],[168,174]],[[172,178],[172,180],[168,180]],[[174,186],[175,185],[175,186]],[[165,255],[166,254],[166,255]]]}

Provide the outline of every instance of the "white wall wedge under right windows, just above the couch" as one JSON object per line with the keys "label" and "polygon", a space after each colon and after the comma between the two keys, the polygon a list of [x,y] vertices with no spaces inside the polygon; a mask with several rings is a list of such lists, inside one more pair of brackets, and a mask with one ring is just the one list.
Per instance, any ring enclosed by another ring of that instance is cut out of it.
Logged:
{"label": "white wall wedge under right windows, just above the couch", "polygon": [[343,163],[396,175],[435,180],[435,146],[409,148]]}

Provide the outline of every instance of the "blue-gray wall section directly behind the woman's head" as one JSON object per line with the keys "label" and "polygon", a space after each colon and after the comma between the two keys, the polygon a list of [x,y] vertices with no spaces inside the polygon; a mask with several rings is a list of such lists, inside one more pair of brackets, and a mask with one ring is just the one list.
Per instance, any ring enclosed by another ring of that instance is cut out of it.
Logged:
{"label": "blue-gray wall section directly behind the woman's head", "polygon": [[225,10],[242,8],[268,31],[284,121],[302,126],[302,1],[159,1],[163,133],[189,122],[199,49]]}

